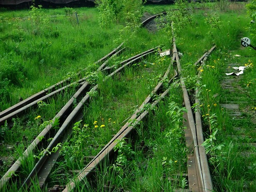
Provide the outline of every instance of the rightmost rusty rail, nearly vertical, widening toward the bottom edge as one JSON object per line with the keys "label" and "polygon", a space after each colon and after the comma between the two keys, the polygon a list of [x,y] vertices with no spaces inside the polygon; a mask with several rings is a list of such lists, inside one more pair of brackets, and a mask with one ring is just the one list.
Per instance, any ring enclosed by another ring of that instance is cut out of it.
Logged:
{"label": "rightmost rusty rail, nearly vertical, widening toward the bottom edge", "polygon": [[[175,37],[173,37],[173,47],[174,47],[173,54],[175,54],[177,68],[180,73],[181,65],[179,62],[179,56],[176,49]],[[207,56],[214,48],[215,46],[212,49],[210,49],[209,52],[206,52],[206,54],[204,54],[204,56],[201,57],[199,61],[196,62],[196,64],[201,62],[201,59],[203,58],[207,59]],[[194,115],[191,110],[191,104],[189,101],[189,95],[186,90],[184,80],[181,78],[180,82],[181,82],[181,89],[183,91],[184,103],[185,103],[186,109],[188,110],[185,116],[185,118],[187,119],[186,124],[189,127],[185,130],[186,138],[187,138],[186,143],[187,143],[187,147],[190,148],[190,151],[194,152],[194,154],[191,154],[188,157],[188,165],[192,165],[196,168],[196,172],[195,172],[193,167],[188,166],[189,189],[196,192],[210,192],[213,190],[213,187],[211,182],[211,175],[209,172],[209,165],[208,165],[204,148],[199,147],[201,143],[204,141],[204,137],[202,134],[202,126],[200,124],[201,117],[198,118],[198,116],[200,116],[200,114],[198,113],[196,115],[198,121],[195,123]],[[200,149],[200,152],[199,152],[199,149]]]}

